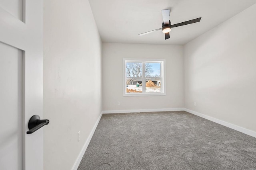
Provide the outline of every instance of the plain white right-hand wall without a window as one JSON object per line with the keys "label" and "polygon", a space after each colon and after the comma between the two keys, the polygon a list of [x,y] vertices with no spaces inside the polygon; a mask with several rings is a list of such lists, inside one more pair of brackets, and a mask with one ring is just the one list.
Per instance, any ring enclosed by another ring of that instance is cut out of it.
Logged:
{"label": "plain white right-hand wall without a window", "polygon": [[187,109],[256,131],[256,4],[184,46],[184,78]]}

